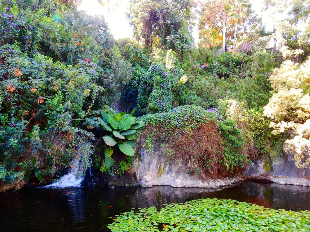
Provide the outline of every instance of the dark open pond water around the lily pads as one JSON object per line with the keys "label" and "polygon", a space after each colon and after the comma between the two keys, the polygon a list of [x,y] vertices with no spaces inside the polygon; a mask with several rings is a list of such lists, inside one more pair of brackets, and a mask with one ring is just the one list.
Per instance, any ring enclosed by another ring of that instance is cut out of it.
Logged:
{"label": "dark open pond water around the lily pads", "polygon": [[0,195],[1,231],[109,231],[109,217],[131,208],[161,207],[197,198],[236,199],[269,208],[310,210],[310,188],[239,183],[209,190],[199,188],[80,187],[27,188]]}

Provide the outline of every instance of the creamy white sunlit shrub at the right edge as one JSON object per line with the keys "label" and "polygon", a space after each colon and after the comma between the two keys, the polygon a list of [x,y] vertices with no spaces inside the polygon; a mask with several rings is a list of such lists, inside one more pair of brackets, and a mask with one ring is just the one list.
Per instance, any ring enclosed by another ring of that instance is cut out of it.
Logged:
{"label": "creamy white sunlit shrub at the right edge", "polygon": [[283,62],[269,78],[273,95],[264,107],[264,115],[272,119],[273,134],[292,132],[284,151],[294,156],[298,168],[310,168],[310,97],[303,90],[309,79],[310,59],[300,65]]}

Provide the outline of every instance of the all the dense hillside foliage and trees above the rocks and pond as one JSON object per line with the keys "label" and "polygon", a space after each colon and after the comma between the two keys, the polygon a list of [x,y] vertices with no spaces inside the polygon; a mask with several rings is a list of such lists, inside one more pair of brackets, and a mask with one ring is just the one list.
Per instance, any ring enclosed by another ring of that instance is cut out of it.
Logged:
{"label": "all the dense hillside foliage and trees above the rocks and pond", "polygon": [[[150,151],[152,141],[169,138],[165,154],[201,177],[211,167],[226,170],[216,176],[258,157],[271,161],[283,144],[298,167],[308,168],[310,5],[291,2],[269,49],[271,36],[247,1],[209,1],[209,8],[198,2],[131,0],[127,16],[136,41],[115,41],[104,17],[77,11],[76,1],[0,2],[1,184],[51,179],[73,157],[83,174],[95,135],[133,156],[140,132]],[[271,5],[279,6],[266,8]],[[200,35],[210,36],[198,48],[191,35],[196,13]],[[216,54],[232,37],[238,48]],[[134,116],[146,127],[132,128]],[[126,120],[129,128],[119,126]],[[180,147],[173,150],[177,143],[192,143],[188,161]],[[113,150],[104,149],[93,157],[94,167],[129,169],[132,160],[114,164]]]}

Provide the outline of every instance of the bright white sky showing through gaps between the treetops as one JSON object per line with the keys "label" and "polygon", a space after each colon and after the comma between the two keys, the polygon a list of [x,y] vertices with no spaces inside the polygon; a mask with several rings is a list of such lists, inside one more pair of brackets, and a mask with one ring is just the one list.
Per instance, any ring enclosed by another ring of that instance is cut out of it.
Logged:
{"label": "bright white sky showing through gaps between the treetops", "polygon": [[[89,15],[104,15],[104,18],[108,22],[108,28],[113,34],[115,39],[119,38],[132,38],[132,28],[129,26],[129,21],[126,18],[126,12],[129,7],[129,0],[111,0],[110,1],[110,13],[108,14],[107,3],[104,6],[97,0],[83,0],[81,5],[78,7],[79,10],[86,11]],[[115,6],[118,3],[118,6]],[[250,0],[252,9],[260,17],[263,17],[263,23],[266,25],[267,30],[272,29],[272,17],[277,19],[283,18],[283,15],[270,15],[268,12],[262,13],[262,0]],[[114,9],[113,9],[114,8]],[[198,29],[194,27],[193,37],[197,44],[198,41]]]}

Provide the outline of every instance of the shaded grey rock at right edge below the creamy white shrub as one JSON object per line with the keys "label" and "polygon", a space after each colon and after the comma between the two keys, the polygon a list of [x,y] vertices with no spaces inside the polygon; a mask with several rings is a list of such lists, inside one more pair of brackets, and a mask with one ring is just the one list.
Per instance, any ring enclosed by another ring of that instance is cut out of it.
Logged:
{"label": "shaded grey rock at right edge below the creamy white shrub", "polygon": [[290,155],[277,157],[272,166],[267,161],[258,160],[244,172],[244,175],[265,178],[273,183],[310,186],[310,170],[296,168]]}

